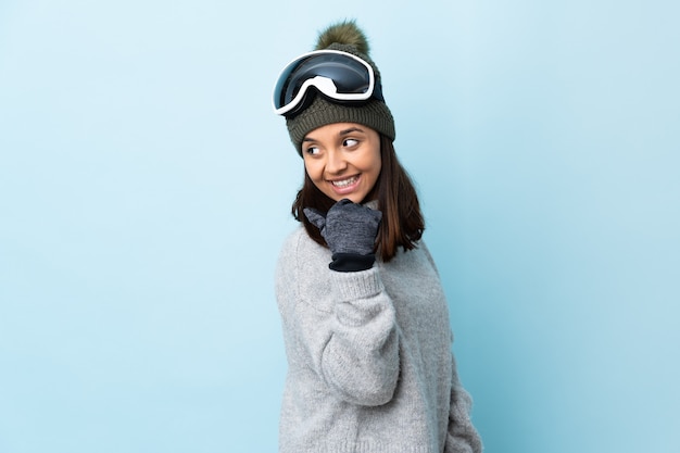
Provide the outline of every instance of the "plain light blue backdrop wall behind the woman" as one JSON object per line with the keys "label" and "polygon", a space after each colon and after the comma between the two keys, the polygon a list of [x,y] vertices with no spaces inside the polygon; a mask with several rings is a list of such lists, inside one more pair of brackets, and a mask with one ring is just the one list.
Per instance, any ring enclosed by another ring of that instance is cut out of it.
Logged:
{"label": "plain light blue backdrop wall behind the woman", "polygon": [[280,67],[355,17],[487,452],[678,452],[680,9],[4,0],[0,452],[274,452]]}

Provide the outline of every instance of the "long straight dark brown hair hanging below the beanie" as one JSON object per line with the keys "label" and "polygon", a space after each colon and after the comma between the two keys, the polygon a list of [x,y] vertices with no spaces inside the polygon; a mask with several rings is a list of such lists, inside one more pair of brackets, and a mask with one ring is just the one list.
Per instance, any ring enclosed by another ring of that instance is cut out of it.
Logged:
{"label": "long straight dark brown hair hanging below the beanie", "polygon": [[[376,238],[376,250],[383,262],[394,257],[400,247],[412,250],[423,237],[425,221],[420,203],[411,177],[399,162],[392,140],[380,135],[381,168],[375,187],[365,201],[378,199],[378,210],[382,212],[382,222]],[[291,213],[302,222],[307,235],[322,246],[326,246],[318,228],[303,213],[304,207],[314,207],[322,212],[336,203],[322,192],[304,172],[302,189],[298,191]]]}

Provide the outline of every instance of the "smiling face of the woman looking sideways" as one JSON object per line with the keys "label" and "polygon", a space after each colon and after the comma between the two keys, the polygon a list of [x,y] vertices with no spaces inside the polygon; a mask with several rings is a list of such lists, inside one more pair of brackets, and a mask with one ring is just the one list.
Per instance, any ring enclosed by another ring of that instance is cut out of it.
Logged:
{"label": "smiling face of the woman looking sideways", "polygon": [[356,123],[329,124],[304,137],[302,156],[307,175],[327,197],[361,203],[380,175],[380,136]]}

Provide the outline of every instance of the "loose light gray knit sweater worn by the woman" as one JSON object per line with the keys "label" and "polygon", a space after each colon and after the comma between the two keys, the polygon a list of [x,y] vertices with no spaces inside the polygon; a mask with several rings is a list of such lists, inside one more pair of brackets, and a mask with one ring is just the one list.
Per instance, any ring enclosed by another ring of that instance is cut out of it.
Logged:
{"label": "loose light gray knit sweater worn by the woman", "polygon": [[288,356],[279,452],[480,452],[425,244],[368,270],[331,270],[330,261],[302,227],[279,257]]}

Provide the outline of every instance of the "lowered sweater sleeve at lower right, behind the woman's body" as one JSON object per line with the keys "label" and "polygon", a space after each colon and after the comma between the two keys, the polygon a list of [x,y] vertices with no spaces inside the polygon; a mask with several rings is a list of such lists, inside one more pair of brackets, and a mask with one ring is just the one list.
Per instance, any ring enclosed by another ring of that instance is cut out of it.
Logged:
{"label": "lowered sweater sleeve at lower right, behind the woman's body", "polygon": [[461,385],[452,355],[451,403],[444,453],[481,453],[481,438],[470,420],[473,400]]}

